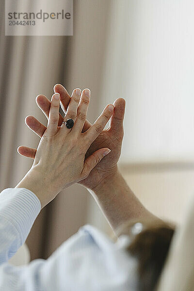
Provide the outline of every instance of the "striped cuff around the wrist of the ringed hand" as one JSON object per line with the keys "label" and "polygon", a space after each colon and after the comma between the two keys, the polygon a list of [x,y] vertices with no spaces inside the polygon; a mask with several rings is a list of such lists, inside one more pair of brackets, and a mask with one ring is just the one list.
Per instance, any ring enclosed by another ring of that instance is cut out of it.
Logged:
{"label": "striped cuff around the wrist of the ringed hand", "polygon": [[16,227],[21,245],[25,242],[40,210],[40,200],[28,189],[7,188],[0,193],[0,216]]}

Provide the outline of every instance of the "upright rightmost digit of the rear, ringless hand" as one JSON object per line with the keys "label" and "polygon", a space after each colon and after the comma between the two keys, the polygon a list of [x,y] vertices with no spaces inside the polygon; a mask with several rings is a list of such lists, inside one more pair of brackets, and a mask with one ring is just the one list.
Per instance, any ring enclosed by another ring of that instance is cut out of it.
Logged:
{"label": "upright rightmost digit of the rear, ringless hand", "polygon": [[125,115],[125,99],[118,98],[114,101],[114,112],[111,116],[110,130],[123,131],[123,119]]}

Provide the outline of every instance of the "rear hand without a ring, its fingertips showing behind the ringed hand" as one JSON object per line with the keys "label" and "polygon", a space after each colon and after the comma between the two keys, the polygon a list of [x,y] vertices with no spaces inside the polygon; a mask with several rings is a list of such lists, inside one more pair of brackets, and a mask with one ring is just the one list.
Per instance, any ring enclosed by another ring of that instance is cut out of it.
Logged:
{"label": "rear hand without a ring, its fingertips showing behind the ringed hand", "polygon": [[[54,92],[60,94],[61,107],[66,112],[70,96],[68,95],[66,89],[61,84],[56,84],[54,86]],[[48,118],[50,110],[50,101],[44,95],[39,95],[36,98],[36,103],[43,113]],[[107,180],[115,177],[117,173],[117,162],[121,153],[121,145],[123,140],[123,119],[125,113],[125,100],[123,98],[118,98],[114,101],[114,112],[111,117],[110,128],[103,130],[97,139],[93,142],[86,153],[86,158],[94,153],[97,149],[102,147],[108,147],[111,149],[110,154],[97,164],[97,166],[90,172],[89,176],[79,184],[85,186],[91,190],[97,190],[101,187],[101,184],[106,183]],[[61,126],[63,117],[59,116],[59,126]],[[32,129],[40,137],[43,136],[45,130],[47,129],[43,124],[41,124],[35,117],[28,116],[25,119],[27,126]],[[88,130],[91,124],[86,120],[83,132]],[[36,149],[19,146],[17,149],[18,153],[34,159],[36,154]]]}

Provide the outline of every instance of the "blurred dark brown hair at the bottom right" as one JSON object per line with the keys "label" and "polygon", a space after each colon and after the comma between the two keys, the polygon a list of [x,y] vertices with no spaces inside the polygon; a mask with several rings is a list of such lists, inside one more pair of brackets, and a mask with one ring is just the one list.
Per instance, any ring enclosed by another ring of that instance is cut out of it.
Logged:
{"label": "blurred dark brown hair at the bottom right", "polygon": [[131,233],[133,222],[128,223],[122,234],[130,233],[131,243],[127,250],[138,259],[138,291],[153,291],[162,272],[175,227],[161,220],[138,223],[143,226],[140,233]]}

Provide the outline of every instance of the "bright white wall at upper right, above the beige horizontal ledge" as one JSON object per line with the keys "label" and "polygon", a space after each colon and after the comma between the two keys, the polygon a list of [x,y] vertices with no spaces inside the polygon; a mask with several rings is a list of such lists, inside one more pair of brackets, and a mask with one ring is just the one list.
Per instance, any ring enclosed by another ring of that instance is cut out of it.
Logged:
{"label": "bright white wall at upper right, above the beige horizontal ledge", "polygon": [[127,100],[121,162],[194,161],[194,1],[115,0],[111,14],[101,108]]}

